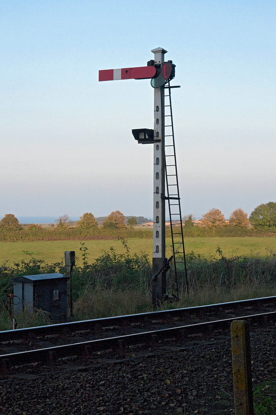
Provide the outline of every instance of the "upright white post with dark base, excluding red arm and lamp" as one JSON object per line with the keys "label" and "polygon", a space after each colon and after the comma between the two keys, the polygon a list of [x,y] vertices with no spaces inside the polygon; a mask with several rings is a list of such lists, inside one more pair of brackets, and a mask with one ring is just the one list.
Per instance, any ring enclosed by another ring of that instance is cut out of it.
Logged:
{"label": "upright white post with dark base, excluding red arm and lamp", "polygon": [[[152,49],[154,63],[163,64],[167,50],[162,47]],[[164,86],[154,89],[154,143],[153,151],[153,277],[163,268],[166,256],[165,244],[165,118],[164,118]],[[161,195],[163,197],[161,197]],[[161,272],[152,283],[152,301],[159,305],[166,294],[166,271]]]}

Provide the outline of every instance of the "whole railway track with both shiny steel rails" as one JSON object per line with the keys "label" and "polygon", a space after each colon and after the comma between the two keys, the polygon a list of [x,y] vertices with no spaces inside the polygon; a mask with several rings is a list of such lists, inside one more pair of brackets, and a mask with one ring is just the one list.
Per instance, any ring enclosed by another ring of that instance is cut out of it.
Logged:
{"label": "whole railway track with both shiny steel rails", "polygon": [[0,332],[0,365],[47,363],[165,339],[185,341],[198,333],[229,331],[238,318],[275,321],[276,297]]}

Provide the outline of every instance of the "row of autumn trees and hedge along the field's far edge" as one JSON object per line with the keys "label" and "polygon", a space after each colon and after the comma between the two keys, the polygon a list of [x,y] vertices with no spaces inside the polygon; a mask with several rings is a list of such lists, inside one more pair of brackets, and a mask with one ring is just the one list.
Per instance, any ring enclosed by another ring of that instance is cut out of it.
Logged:
{"label": "row of autumn trees and hedge along the field's far edge", "polygon": [[[276,233],[276,202],[257,206],[249,215],[242,209],[235,209],[229,220],[221,210],[212,208],[201,218],[199,226],[195,226],[193,215],[183,218],[184,236],[253,236]],[[135,217],[127,221],[119,210],[111,212],[99,225],[91,212],[83,213],[80,220],[73,226],[67,214],[56,220],[50,229],[41,225],[29,224],[22,226],[11,213],[5,214],[0,220],[1,241],[39,241],[39,240],[87,240],[114,239],[114,237],[150,238],[152,229],[138,228]],[[169,227],[168,227],[169,228]],[[170,230],[167,230],[168,236]]]}

